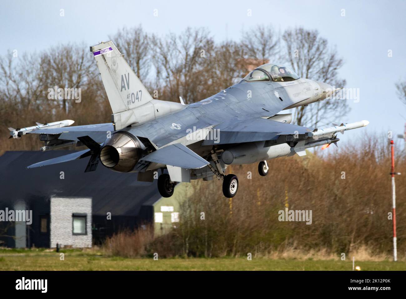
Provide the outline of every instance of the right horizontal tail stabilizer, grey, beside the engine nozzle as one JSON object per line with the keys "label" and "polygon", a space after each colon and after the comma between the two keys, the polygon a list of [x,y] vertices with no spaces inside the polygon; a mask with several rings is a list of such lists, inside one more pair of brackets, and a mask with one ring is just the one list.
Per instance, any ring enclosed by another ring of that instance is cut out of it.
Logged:
{"label": "right horizontal tail stabilizer, grey, beside the engine nozzle", "polygon": [[186,169],[202,168],[209,164],[209,162],[197,155],[197,153],[194,153],[194,151],[179,143],[160,148],[143,157],[141,160]]}

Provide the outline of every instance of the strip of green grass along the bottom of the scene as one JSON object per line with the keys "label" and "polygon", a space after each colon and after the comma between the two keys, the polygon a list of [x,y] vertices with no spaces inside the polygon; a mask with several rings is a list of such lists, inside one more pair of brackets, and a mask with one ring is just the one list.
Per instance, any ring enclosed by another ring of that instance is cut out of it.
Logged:
{"label": "strip of green grass along the bottom of the scene", "polygon": [[[405,262],[356,262],[363,271],[398,270],[405,271]],[[265,258],[120,258],[107,257],[100,253],[86,253],[80,250],[67,250],[65,260],[60,260],[55,251],[0,251],[0,271],[55,271],[55,270],[352,270],[352,261],[346,260],[270,260]]]}

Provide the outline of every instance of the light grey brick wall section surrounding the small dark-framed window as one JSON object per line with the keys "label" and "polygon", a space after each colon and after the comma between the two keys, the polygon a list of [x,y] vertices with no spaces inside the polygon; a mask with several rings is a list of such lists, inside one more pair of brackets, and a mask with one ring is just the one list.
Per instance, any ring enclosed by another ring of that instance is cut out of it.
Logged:
{"label": "light grey brick wall section surrounding the small dark-framed window", "polygon": [[[87,235],[72,234],[72,214],[87,214]],[[92,247],[92,199],[51,197],[50,213],[51,247],[56,243],[72,247]]]}

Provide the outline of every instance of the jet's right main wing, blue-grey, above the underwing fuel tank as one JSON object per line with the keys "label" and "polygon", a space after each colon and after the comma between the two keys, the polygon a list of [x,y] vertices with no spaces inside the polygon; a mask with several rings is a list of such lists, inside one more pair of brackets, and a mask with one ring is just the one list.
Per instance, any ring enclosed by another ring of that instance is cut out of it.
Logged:
{"label": "jet's right main wing, blue-grey, above the underwing fuel tank", "polygon": [[[216,144],[231,144],[277,139],[279,135],[304,134],[312,128],[296,126],[266,118],[232,119],[213,129],[218,129]],[[212,145],[215,140],[205,140],[203,145]],[[217,142],[219,141],[219,142]]]}

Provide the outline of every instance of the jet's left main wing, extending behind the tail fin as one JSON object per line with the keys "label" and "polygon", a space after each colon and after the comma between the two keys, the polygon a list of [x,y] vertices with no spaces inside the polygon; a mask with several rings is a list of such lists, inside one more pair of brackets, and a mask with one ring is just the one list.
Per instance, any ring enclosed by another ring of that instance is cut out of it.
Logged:
{"label": "jet's left main wing, extending behind the tail fin", "polygon": [[107,138],[107,131],[110,131],[111,133],[114,132],[112,123],[89,124],[85,126],[62,127],[54,129],[38,129],[27,134],[60,134],[58,139],[74,141],[78,141],[78,137],[89,136],[95,142],[102,143]]}

